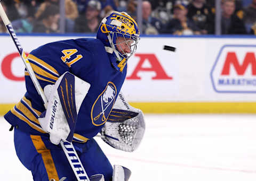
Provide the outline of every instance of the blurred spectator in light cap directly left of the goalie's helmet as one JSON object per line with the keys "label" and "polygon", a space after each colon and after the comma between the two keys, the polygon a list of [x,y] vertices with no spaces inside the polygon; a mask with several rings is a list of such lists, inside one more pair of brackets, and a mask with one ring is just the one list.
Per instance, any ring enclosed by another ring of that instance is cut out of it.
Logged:
{"label": "blurred spectator in light cap directly left of the goalie's helmet", "polygon": [[97,0],[90,0],[87,4],[86,12],[75,21],[75,32],[95,33],[101,22],[99,17],[101,10],[101,4]]}

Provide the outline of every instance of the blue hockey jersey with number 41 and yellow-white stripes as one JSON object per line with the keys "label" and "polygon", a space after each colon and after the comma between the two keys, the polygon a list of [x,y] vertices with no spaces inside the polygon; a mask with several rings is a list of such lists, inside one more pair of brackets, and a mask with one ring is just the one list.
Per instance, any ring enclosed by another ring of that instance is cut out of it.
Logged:
{"label": "blue hockey jersey with number 41 and yellow-white stripes", "polygon": [[[100,132],[125,80],[126,59],[117,61],[100,40],[91,38],[51,42],[31,51],[28,59],[43,89],[67,71],[91,84],[77,116],[73,141],[86,142]],[[25,80],[25,96],[4,117],[24,132],[45,134],[38,122],[45,108],[26,70]],[[108,94],[108,100],[103,94]]]}

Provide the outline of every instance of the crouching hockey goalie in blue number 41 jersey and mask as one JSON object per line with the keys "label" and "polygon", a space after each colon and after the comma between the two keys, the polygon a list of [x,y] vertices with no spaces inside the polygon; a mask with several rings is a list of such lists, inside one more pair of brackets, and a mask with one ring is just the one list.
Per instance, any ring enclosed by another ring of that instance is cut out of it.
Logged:
{"label": "crouching hockey goalie in blue number 41 jersey and mask", "polygon": [[120,92],[139,35],[130,15],[113,12],[101,21],[97,38],[51,42],[30,52],[47,108],[25,70],[27,92],[4,117],[14,128],[17,156],[34,180],[76,180],[61,140],[73,143],[91,181],[129,179],[131,171],[113,167],[93,137],[100,134],[113,148],[129,152],[142,140],[142,111]]}

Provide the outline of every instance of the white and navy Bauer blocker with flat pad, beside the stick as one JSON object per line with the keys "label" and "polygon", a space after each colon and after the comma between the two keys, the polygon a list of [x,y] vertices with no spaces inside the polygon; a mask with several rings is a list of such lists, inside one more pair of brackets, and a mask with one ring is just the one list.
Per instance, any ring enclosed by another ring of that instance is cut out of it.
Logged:
{"label": "white and navy Bauer blocker with flat pad, beside the stick", "polygon": [[89,89],[89,83],[69,72],[61,75],[54,85],[45,86],[48,105],[38,120],[53,144],[73,140],[77,114]]}

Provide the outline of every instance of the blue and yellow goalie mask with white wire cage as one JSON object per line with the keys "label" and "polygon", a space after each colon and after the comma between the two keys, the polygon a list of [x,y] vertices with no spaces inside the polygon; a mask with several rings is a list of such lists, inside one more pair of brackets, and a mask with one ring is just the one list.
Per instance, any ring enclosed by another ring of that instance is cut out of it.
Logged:
{"label": "blue and yellow goalie mask with white wire cage", "polygon": [[[135,20],[125,12],[116,11],[106,18],[103,18],[97,32],[97,38],[100,39],[106,47],[111,48],[111,51],[115,53],[118,61],[122,61],[123,59],[127,60],[135,53],[139,36],[140,31]],[[117,43],[117,37],[123,37],[124,41]],[[130,48],[129,53],[125,53],[123,50],[122,52],[118,51],[117,46],[122,43],[125,43]]]}

